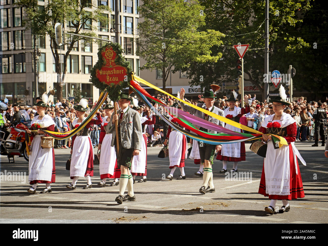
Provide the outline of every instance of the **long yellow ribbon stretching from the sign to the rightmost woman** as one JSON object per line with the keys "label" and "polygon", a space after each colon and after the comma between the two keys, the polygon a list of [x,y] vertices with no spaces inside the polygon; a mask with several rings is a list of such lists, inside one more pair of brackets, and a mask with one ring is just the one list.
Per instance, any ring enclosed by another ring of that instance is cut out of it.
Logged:
{"label": "long yellow ribbon stretching from the sign to the rightmost woman", "polygon": [[[229,124],[229,125],[232,125],[232,126],[234,126],[234,127],[237,127],[237,128],[239,128],[239,129],[242,129],[242,130],[245,130],[245,131],[249,131],[249,132],[253,132],[253,133],[257,133],[257,134],[263,134],[262,132],[259,132],[259,131],[255,130],[255,129],[253,129],[253,128],[249,128],[249,127],[244,126],[244,125],[242,125],[242,124],[240,124],[240,123],[237,123],[237,122],[235,122],[235,121],[233,121],[233,120],[227,119],[227,118],[222,117],[222,116],[220,116],[220,115],[214,114],[213,112],[209,112],[208,110],[205,110],[205,109],[203,109],[203,108],[197,107],[197,106],[195,106],[194,104],[191,104],[191,103],[189,103],[189,102],[186,102],[186,101],[184,101],[184,100],[181,100],[180,98],[174,97],[174,96],[171,95],[170,93],[167,93],[166,91],[163,91],[162,89],[160,89],[160,88],[154,86],[153,84],[147,82],[147,81],[144,80],[144,79],[141,79],[141,78],[138,77],[138,76],[132,75],[132,79],[135,80],[135,81],[137,81],[137,82],[139,82],[139,83],[142,83],[142,84],[144,84],[144,85],[147,85],[147,86],[149,86],[149,87],[151,87],[151,88],[153,88],[153,89],[155,89],[155,90],[157,90],[157,91],[159,91],[159,92],[162,92],[162,93],[164,93],[164,94],[166,94],[166,95],[168,95],[168,96],[170,96],[170,97],[173,97],[173,98],[175,98],[176,100],[178,100],[178,101],[180,101],[180,102],[183,102],[183,103],[187,104],[188,106],[190,106],[190,107],[192,107],[192,108],[194,108],[194,109],[197,109],[197,110],[203,112],[204,114],[211,115],[211,116],[214,117],[215,119],[221,120],[221,121],[223,121],[223,122],[225,122],[225,123],[227,123],[227,124]],[[273,135],[273,134],[270,134],[270,135]],[[288,145],[288,144],[287,144],[287,141],[286,141],[285,138],[280,137],[280,136],[277,136],[277,135],[274,135],[274,136],[276,136],[276,137],[279,138],[279,140],[280,140],[280,142],[279,142],[279,147],[281,147],[282,145]],[[280,145],[281,145],[281,146],[280,146]]]}

